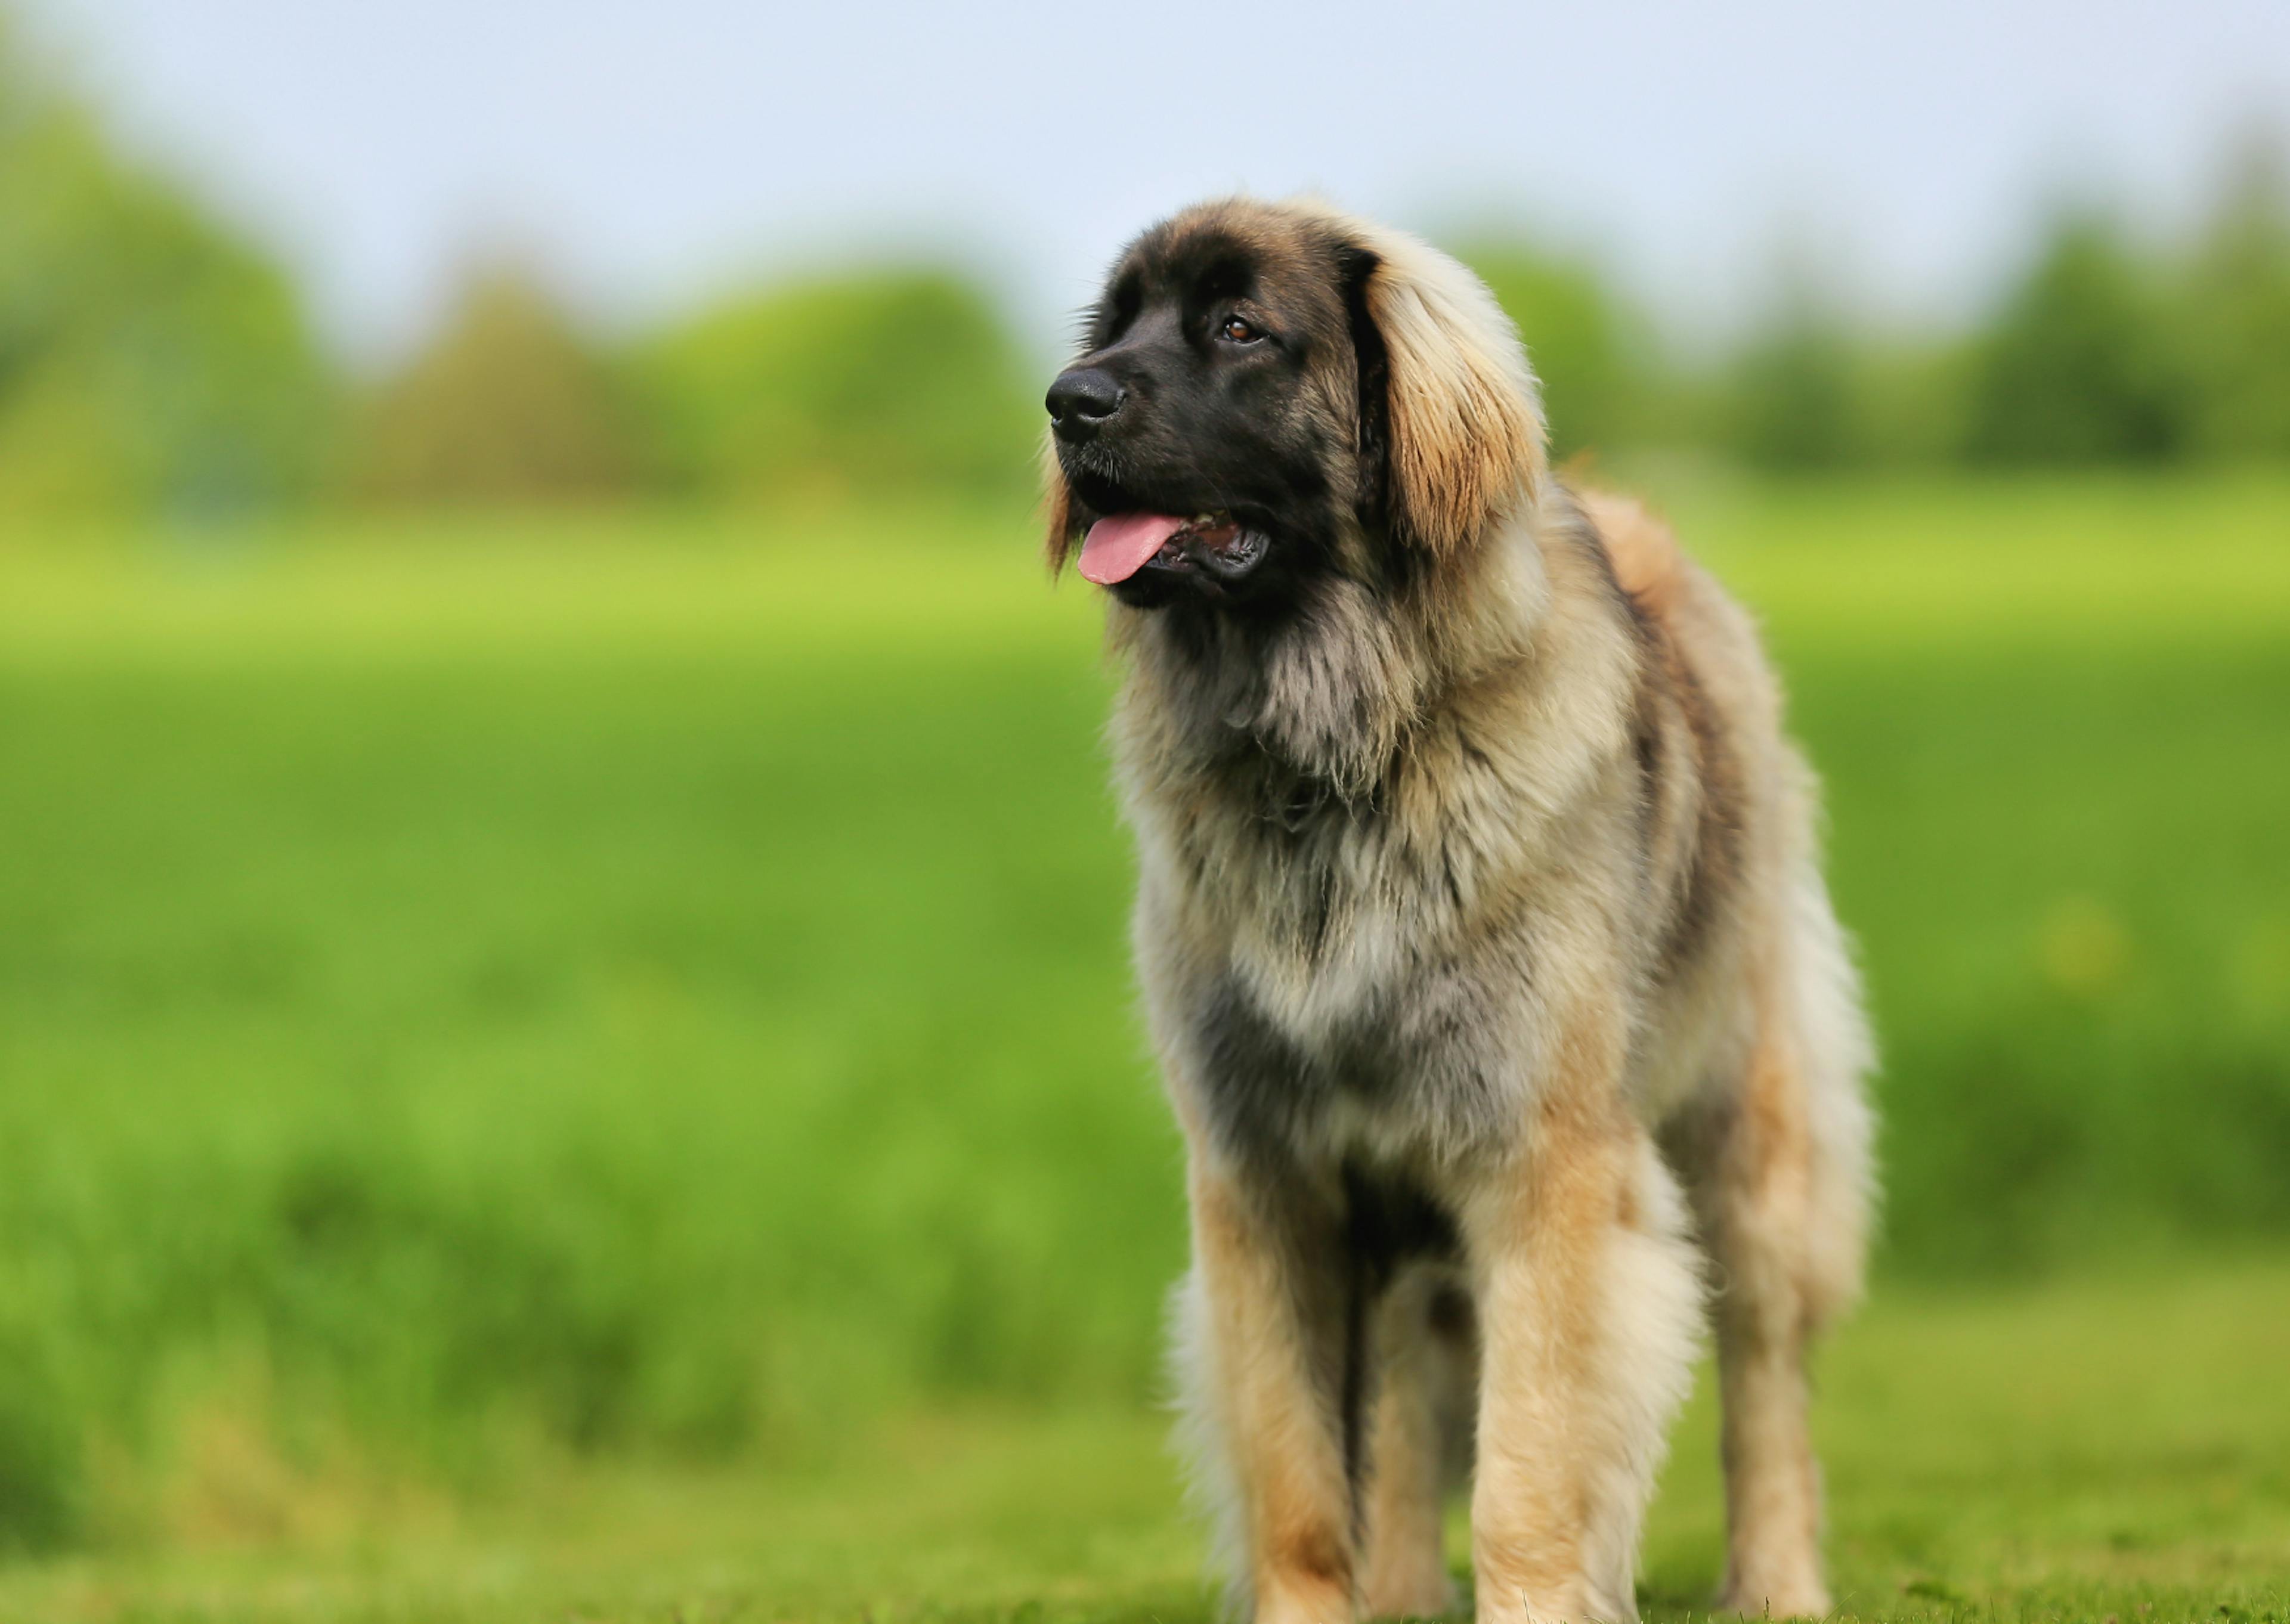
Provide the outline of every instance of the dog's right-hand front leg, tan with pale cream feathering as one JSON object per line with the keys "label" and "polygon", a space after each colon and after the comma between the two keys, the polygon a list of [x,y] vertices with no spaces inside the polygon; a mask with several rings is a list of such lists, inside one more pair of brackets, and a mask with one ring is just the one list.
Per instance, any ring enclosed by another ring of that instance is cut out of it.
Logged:
{"label": "dog's right-hand front leg, tan with pale cream feathering", "polygon": [[1612,1074],[1550,1077],[1463,1205],[1479,1294],[1479,1624],[1635,1619],[1637,1530],[1701,1287],[1681,1200]]}

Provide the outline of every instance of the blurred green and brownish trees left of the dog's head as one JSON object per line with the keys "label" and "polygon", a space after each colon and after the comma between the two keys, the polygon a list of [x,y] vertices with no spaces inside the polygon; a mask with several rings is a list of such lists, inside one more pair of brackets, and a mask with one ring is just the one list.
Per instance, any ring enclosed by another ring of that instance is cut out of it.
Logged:
{"label": "blurred green and brownish trees left of the dog's head", "polygon": [[1035,371],[943,268],[742,291],[611,341],[490,266],[357,387],[286,273],[126,163],[0,14],[0,513],[1017,495]]}

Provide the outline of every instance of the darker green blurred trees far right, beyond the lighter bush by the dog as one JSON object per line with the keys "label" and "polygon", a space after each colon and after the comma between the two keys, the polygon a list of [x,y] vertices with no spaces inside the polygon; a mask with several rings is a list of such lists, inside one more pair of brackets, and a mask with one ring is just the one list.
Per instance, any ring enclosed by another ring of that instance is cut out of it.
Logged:
{"label": "darker green blurred trees far right, beyond the lighter bush by the dog", "polygon": [[1772,470],[2290,458],[2290,183],[2253,142],[2185,245],[2056,213],[1967,332],[1894,337],[1784,298],[1708,396]]}

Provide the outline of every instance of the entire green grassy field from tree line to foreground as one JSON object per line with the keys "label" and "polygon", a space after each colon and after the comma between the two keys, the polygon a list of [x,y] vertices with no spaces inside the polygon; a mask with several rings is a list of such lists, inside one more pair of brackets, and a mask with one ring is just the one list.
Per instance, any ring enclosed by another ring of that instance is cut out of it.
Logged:
{"label": "entire green grassy field from tree line to foreground", "polygon": [[[2217,1260],[2290,1244],[2290,483],[1669,499],[1887,1051],[1857,1606],[2281,1610],[2290,1287]],[[1030,559],[0,538],[0,1610],[1198,1613],[1106,673]],[[1690,1443],[1656,1599],[1713,1514]]]}

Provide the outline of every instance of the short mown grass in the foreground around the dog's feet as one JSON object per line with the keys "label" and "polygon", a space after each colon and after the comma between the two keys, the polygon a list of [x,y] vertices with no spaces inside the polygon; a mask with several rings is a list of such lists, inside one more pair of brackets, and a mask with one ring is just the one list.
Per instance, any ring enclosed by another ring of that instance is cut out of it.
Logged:
{"label": "short mown grass in the foreground around the dog's feet", "polygon": [[[2283,1264],[1880,1294],[1823,1361],[1839,1613],[2290,1619],[2285,1367]],[[1653,1507],[1651,1622],[1708,1617],[1715,1420],[1704,1383]],[[1209,1624],[1161,1434],[1138,1409],[960,1409],[802,1471],[591,1468],[357,1516],[321,1496],[284,1548],[240,1530],[18,1567],[0,1619]],[[208,1493],[277,1484],[252,1466]],[[1450,1548],[1468,1574],[1461,1519]]]}

